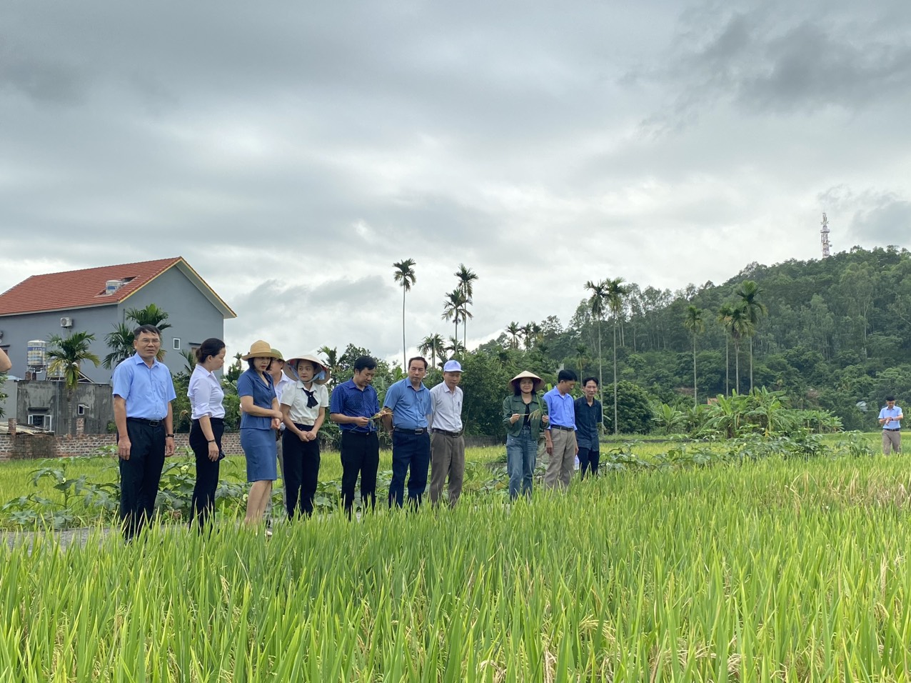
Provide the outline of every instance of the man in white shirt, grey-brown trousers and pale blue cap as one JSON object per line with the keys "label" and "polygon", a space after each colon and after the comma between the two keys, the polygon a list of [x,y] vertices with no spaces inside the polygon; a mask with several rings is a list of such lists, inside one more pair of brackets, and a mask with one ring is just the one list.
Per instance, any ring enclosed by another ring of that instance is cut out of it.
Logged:
{"label": "man in white shirt, grey-brown trousers and pale blue cap", "polygon": [[447,360],[443,381],[430,389],[434,409],[430,421],[430,502],[436,503],[449,478],[449,505],[455,507],[465,478],[465,439],[462,436],[462,366]]}

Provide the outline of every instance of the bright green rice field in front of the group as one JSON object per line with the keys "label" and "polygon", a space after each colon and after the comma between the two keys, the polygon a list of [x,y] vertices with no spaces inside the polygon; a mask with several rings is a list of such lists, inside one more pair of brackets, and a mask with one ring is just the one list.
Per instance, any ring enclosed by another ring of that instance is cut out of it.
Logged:
{"label": "bright green rice field in front of the group", "polygon": [[[454,511],[380,506],[353,523],[278,524],[271,539],[229,514],[210,536],[163,525],[130,544],[100,526],[66,549],[36,532],[0,544],[0,671],[9,681],[906,681],[905,458],[615,471],[566,493],[538,488],[531,502],[476,493]],[[0,499],[30,486],[21,467],[0,466]]]}

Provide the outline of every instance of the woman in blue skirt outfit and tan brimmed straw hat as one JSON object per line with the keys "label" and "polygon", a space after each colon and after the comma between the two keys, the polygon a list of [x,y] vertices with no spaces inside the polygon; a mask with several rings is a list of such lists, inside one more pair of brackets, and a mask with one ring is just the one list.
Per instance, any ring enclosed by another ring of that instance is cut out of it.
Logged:
{"label": "woman in blue skirt outfit and tan brimmed straw hat", "polygon": [[272,347],[262,340],[255,341],[242,358],[249,368],[237,380],[237,393],[241,397],[241,448],[247,458],[247,481],[251,483],[243,522],[255,524],[261,522],[271,499],[272,481],[278,478],[273,430],[281,424],[281,409],[269,374],[275,358]]}

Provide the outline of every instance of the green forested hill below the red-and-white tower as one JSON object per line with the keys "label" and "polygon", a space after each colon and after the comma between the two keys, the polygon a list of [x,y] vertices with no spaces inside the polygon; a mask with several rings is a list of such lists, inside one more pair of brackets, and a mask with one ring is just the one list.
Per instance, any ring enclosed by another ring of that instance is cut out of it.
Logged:
{"label": "green forested hill below the red-and-white tower", "polygon": [[[754,325],[732,313],[742,312],[738,292],[744,282],[748,289],[750,282],[756,285]],[[725,392],[726,349],[729,388],[749,390],[751,342],[754,386],[786,392],[794,407],[831,409],[846,429],[875,426],[871,413],[886,393],[895,393],[899,405],[911,401],[911,254],[905,249],[855,247],[821,260],[750,264],[723,285],[708,282],[677,292],[623,285],[627,292],[616,316],[619,378],[652,399],[692,402],[693,333],[685,322],[695,306],[704,325],[700,331],[695,324],[700,402]],[[580,288],[580,295],[589,294]],[[732,324],[732,316],[740,322]],[[600,326],[606,385],[613,378],[614,323],[605,305]],[[598,374],[598,332],[588,297],[566,329],[551,316],[534,332],[530,339],[498,341],[537,347],[544,357]],[[858,410],[858,401],[867,401],[870,410]]]}

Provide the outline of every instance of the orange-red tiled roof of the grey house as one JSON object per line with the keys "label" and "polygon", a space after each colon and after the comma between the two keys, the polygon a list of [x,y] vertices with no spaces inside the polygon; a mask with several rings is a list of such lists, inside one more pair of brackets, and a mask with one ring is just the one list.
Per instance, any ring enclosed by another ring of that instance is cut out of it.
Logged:
{"label": "orange-red tiled roof of the grey house", "polygon": [[[181,257],[177,257],[143,261],[138,264],[105,265],[66,273],[32,275],[0,295],[0,316],[117,304],[181,262],[186,264]],[[195,271],[193,273],[195,274]],[[108,280],[127,282],[114,294],[106,295],[105,285]],[[202,285],[205,283],[202,282]],[[212,292],[212,295],[214,294]],[[228,310],[230,311],[230,308]]]}

